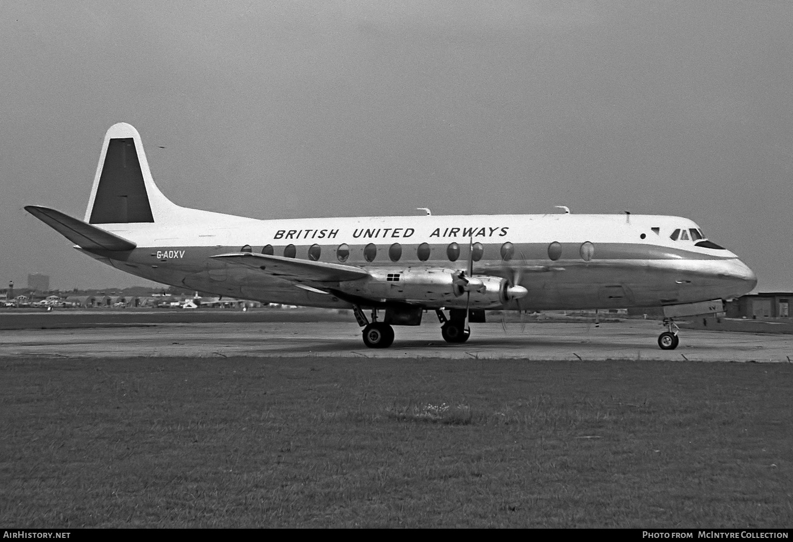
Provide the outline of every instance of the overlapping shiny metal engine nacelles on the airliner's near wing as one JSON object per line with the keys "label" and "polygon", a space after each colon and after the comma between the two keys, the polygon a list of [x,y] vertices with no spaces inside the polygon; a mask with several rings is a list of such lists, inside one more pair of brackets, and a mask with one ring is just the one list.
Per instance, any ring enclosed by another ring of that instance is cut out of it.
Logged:
{"label": "overlapping shiny metal engine nacelles on the airliner's near wing", "polygon": [[[463,277],[459,269],[369,269],[371,277],[346,281],[339,289],[354,296],[381,301],[433,304],[443,307],[500,308],[526,296],[523,286],[511,286],[502,277]],[[463,285],[464,284],[464,285]],[[470,300],[468,299],[470,294]]]}

